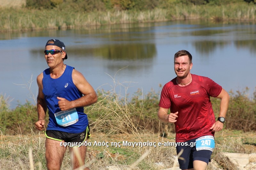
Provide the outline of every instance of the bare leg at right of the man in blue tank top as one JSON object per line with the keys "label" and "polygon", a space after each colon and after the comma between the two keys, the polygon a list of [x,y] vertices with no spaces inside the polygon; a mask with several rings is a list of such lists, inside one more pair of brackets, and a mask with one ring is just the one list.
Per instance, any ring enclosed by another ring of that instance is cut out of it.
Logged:
{"label": "bare leg at right of the man in blue tank top", "polygon": [[[86,146],[69,147],[71,167],[76,169],[80,166],[84,167]],[[84,170],[90,170],[88,167],[84,167]]]}

